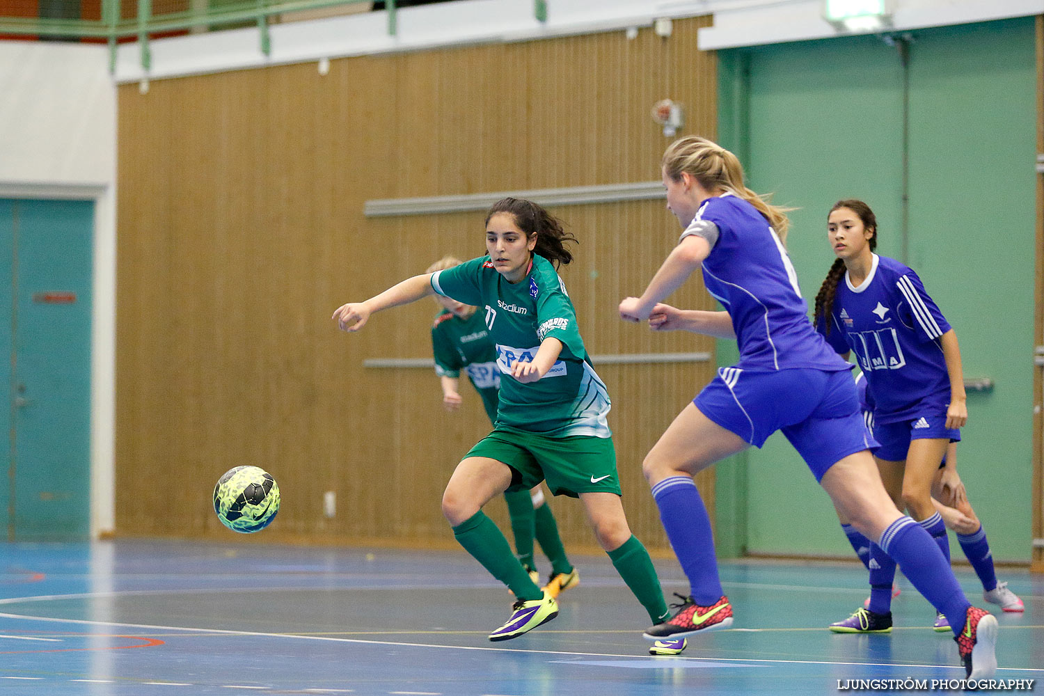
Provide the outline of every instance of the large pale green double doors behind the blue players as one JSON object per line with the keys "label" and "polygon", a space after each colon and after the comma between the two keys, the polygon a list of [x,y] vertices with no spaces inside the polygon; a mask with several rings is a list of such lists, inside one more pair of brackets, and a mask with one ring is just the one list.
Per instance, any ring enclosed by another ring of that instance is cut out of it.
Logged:
{"label": "large pale green double doors behind the blue players", "polygon": [[[992,392],[969,394],[958,471],[994,556],[1027,561],[1034,21],[912,38],[906,261],[954,327],[966,377],[996,383]],[[825,220],[837,199],[870,202],[878,251],[901,258],[904,73],[897,48],[856,37],[719,57],[719,140],[745,154],[751,188],[799,209],[790,213],[787,247],[809,304],[833,261]],[[735,459],[718,473],[722,555],[851,554],[826,494],[781,435]],[[783,523],[792,519],[800,523]]]}

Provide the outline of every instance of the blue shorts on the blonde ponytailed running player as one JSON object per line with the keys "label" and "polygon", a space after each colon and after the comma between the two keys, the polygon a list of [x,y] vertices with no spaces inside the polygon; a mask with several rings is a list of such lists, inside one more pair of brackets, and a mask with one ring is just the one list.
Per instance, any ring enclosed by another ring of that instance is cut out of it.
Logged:
{"label": "blue shorts on the blonde ponytailed running player", "polygon": [[758,448],[782,431],[816,481],[850,454],[876,446],[848,370],[719,367],[692,403],[708,418]]}

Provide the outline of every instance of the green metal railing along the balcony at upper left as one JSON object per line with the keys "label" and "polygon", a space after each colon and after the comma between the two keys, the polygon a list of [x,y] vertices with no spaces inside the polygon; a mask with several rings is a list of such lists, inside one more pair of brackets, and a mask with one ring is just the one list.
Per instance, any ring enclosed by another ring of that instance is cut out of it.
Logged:
{"label": "green metal railing along the balcony at upper left", "polygon": [[[101,0],[101,19],[54,19],[46,17],[0,17],[0,34],[32,35],[58,39],[104,39],[109,43],[109,69],[116,70],[116,46],[121,39],[136,38],[141,49],[141,66],[151,68],[149,38],[157,33],[187,31],[196,27],[208,30],[228,28],[228,25],[257,24],[260,32],[261,52],[269,55],[271,41],[268,34],[270,18],[285,13],[324,9],[338,5],[353,5],[365,0],[241,0],[209,5],[200,9],[187,9],[153,14],[152,0],[138,0],[135,17],[124,18],[120,0]],[[387,31],[395,35],[396,0],[385,0]]]}

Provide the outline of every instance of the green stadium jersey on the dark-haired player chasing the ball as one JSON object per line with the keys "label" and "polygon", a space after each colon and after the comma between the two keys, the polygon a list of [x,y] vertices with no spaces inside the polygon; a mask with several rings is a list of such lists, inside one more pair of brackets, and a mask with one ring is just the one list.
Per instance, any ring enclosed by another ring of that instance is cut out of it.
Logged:
{"label": "green stadium jersey on the dark-haired player chasing the ball", "polygon": [[[573,304],[550,261],[533,255],[529,272],[513,284],[481,257],[436,271],[431,286],[479,308],[475,314],[496,344],[501,373],[498,428],[552,437],[612,435],[609,392],[591,366]],[[547,374],[529,384],[513,378],[512,363],[532,361],[549,337],[562,341],[562,353]]]}

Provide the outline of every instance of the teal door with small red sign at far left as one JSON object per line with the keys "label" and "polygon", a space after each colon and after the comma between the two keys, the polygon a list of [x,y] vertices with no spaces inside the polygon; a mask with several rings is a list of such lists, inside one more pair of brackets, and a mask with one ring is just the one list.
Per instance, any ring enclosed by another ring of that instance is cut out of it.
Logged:
{"label": "teal door with small red sign at far left", "polygon": [[9,541],[90,536],[94,203],[0,199]]}

